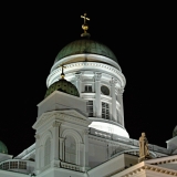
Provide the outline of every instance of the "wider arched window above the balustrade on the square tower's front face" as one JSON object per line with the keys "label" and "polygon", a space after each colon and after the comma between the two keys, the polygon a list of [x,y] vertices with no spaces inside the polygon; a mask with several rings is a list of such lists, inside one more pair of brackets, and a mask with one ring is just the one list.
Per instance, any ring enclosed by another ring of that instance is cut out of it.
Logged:
{"label": "wider arched window above the balustrade on the square tower's front face", "polygon": [[76,143],[70,135],[65,137],[65,162],[76,164]]}

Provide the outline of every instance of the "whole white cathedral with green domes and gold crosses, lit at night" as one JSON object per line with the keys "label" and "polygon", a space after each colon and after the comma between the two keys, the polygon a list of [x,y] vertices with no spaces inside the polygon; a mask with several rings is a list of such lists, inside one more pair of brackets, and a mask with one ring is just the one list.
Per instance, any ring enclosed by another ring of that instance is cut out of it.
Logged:
{"label": "whole white cathedral with green domes and gold crosses, lit at night", "polygon": [[177,176],[177,126],[167,148],[147,144],[148,158],[139,160],[140,138],[124,125],[126,79],[112,50],[91,39],[86,13],[81,18],[81,39],[59,52],[46,79],[34,144],[13,157],[0,142],[0,177]]}

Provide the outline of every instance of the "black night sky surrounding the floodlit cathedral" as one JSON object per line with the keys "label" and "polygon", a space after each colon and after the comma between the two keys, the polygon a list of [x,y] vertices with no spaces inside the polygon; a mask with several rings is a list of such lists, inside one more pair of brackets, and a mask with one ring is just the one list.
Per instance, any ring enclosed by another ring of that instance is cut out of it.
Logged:
{"label": "black night sky surrounding the floodlit cathedral", "polygon": [[80,39],[86,10],[92,40],[106,44],[126,77],[125,127],[166,147],[177,125],[174,4],[91,2],[1,4],[0,140],[18,155],[34,143],[37,104],[59,51]]}

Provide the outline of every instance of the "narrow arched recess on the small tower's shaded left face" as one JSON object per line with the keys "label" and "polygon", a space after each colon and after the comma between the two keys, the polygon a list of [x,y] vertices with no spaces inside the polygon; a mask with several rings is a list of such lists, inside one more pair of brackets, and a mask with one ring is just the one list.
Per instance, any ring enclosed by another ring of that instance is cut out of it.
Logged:
{"label": "narrow arched recess on the small tower's shaded left face", "polygon": [[51,162],[51,139],[48,138],[44,145],[44,166]]}

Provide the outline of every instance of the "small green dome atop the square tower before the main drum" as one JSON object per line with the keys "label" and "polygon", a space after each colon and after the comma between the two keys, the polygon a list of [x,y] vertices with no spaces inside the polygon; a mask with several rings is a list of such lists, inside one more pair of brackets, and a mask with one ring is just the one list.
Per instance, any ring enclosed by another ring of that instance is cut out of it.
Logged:
{"label": "small green dome atop the square tower before the main drum", "polygon": [[73,85],[71,82],[67,82],[64,79],[59,80],[58,82],[53,83],[46,91],[45,97],[49,96],[51,93],[53,93],[54,91],[60,91],[60,92],[64,92],[67,93],[70,95],[74,95],[74,96],[79,96],[79,91],[75,87],[75,85]]}

